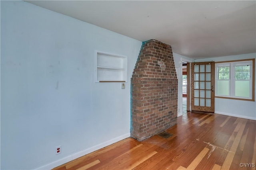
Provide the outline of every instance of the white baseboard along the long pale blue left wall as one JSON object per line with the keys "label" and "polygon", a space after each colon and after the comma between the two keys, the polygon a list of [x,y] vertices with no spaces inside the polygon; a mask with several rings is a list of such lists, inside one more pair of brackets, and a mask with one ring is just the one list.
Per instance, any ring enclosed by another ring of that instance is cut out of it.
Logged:
{"label": "white baseboard along the long pale blue left wall", "polygon": [[88,154],[88,153],[94,152],[95,150],[104,148],[104,147],[106,147],[106,146],[108,146],[108,145],[111,145],[111,144],[113,144],[113,143],[116,143],[116,142],[118,142],[118,141],[121,141],[121,140],[123,140],[123,139],[125,139],[125,138],[128,138],[128,137],[130,137],[130,136],[131,136],[130,133],[126,133],[126,134],[124,134],[124,135],[122,135],[122,136],[116,137],[116,138],[111,139],[111,140],[109,140],[109,141],[106,141],[106,142],[104,142],[104,143],[100,143],[99,145],[96,145],[96,146],[94,146],[94,147],[91,147],[91,148],[82,150],[82,151],[80,151],[80,152],[76,152],[76,153],[74,153],[74,154],[72,154],[72,155],[70,155],[70,156],[67,156],[67,157],[65,157],[65,158],[62,158],[62,159],[57,160],[57,161],[55,161],[55,162],[52,162],[52,163],[50,163],[50,164],[41,166],[40,168],[37,168],[36,170],[51,170],[52,168],[55,168],[55,167],[60,166],[60,165],[62,165],[62,164],[65,164],[65,163],[67,163],[67,162],[69,162],[69,161],[71,161],[71,160],[74,160],[74,159],[76,159],[76,158],[79,158],[79,157],[81,157],[81,156],[84,156],[84,155],[86,155],[86,154]]}

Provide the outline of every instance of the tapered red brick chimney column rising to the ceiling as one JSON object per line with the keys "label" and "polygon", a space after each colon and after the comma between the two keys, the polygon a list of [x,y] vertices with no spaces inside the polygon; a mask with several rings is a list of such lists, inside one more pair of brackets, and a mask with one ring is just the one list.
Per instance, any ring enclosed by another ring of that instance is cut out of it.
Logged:
{"label": "tapered red brick chimney column rising to the ceiling", "polygon": [[[164,62],[164,70],[158,61]],[[178,80],[170,45],[144,42],[131,84],[132,137],[143,140],[176,125]]]}

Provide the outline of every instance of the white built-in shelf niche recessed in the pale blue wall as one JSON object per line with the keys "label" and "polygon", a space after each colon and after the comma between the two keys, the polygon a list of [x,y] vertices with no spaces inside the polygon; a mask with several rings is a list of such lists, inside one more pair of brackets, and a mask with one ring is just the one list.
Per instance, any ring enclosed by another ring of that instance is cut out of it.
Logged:
{"label": "white built-in shelf niche recessed in the pale blue wall", "polygon": [[127,82],[127,56],[96,51],[95,82]]}

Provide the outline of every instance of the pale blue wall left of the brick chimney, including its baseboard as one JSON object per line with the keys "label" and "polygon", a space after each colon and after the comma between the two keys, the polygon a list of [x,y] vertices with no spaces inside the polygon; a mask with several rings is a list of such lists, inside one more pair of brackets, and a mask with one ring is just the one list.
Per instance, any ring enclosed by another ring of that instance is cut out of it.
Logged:
{"label": "pale blue wall left of the brick chimney, including its baseboard", "polygon": [[[1,1],[1,169],[49,169],[129,137],[141,45],[27,2]],[[128,56],[125,89],[94,83],[95,50]]]}

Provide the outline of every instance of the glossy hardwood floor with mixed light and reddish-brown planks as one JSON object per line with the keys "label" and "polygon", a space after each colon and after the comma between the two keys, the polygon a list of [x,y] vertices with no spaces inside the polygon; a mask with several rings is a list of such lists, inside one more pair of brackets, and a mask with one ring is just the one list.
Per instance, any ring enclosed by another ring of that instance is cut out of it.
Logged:
{"label": "glossy hardwood floor with mixed light and reddish-brown planks", "polygon": [[54,170],[255,170],[254,120],[188,112],[166,132],[173,136],[127,138]]}

